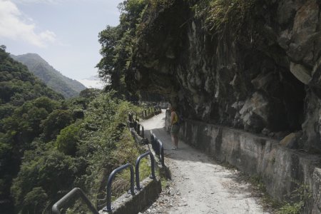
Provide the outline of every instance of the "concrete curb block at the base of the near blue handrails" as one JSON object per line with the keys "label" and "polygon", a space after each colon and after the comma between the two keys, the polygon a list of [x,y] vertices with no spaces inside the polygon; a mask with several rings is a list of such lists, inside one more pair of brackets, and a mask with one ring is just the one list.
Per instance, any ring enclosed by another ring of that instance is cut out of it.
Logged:
{"label": "concrete curb block at the base of the near blue handrails", "polygon": [[[136,214],[151,204],[161,193],[161,179],[146,178],[141,182],[142,189],[135,195],[123,194],[111,203],[114,214]],[[107,213],[100,210],[99,213]]]}

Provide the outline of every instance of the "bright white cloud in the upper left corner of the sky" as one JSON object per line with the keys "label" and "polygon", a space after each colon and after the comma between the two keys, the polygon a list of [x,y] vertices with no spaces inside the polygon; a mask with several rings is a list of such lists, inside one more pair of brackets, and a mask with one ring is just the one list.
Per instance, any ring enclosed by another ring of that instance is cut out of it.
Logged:
{"label": "bright white cloud in the upper left corner of the sky", "polygon": [[0,38],[23,40],[39,47],[56,41],[54,32],[47,30],[37,33],[35,29],[32,19],[25,19],[13,2],[0,0]]}

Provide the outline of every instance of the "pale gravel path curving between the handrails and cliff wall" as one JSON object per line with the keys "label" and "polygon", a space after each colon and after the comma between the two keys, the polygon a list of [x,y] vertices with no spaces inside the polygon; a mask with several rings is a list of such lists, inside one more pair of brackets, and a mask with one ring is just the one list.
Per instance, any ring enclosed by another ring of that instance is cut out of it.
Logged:
{"label": "pale gravel path curving between the handrails and cliff wall", "polygon": [[178,151],[172,150],[170,135],[163,128],[165,111],[141,123],[146,133],[153,130],[163,142],[165,165],[172,173],[168,188],[143,213],[266,213],[237,170],[215,163],[182,141]]}

